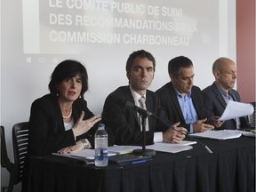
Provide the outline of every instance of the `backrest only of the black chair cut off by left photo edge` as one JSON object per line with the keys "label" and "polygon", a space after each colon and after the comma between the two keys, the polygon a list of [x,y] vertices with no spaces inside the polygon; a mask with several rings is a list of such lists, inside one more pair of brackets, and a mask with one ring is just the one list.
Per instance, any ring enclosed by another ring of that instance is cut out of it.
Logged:
{"label": "backrest only of the black chair cut off by left photo edge", "polygon": [[[4,126],[1,125],[1,166],[9,169],[10,159],[7,154]],[[9,170],[8,170],[9,171]]]}

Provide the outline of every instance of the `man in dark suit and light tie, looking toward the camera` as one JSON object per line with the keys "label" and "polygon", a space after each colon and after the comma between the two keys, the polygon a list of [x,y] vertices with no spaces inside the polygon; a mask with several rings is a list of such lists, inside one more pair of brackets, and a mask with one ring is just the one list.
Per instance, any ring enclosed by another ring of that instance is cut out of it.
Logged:
{"label": "man in dark suit and light tie, looking toward the camera", "polygon": [[186,132],[186,129],[178,128],[178,124],[173,124],[171,128],[169,125],[171,123],[166,118],[156,93],[148,90],[154,78],[155,68],[156,60],[151,53],[144,50],[132,52],[126,62],[129,85],[117,88],[105,100],[102,119],[114,132],[117,145],[141,145],[143,143],[139,114],[132,108],[124,108],[118,103],[118,100],[127,100],[139,106],[141,97],[146,99],[147,110],[166,122],[164,124],[155,117],[148,116],[146,145],[158,141],[180,142],[185,138],[183,132]]}

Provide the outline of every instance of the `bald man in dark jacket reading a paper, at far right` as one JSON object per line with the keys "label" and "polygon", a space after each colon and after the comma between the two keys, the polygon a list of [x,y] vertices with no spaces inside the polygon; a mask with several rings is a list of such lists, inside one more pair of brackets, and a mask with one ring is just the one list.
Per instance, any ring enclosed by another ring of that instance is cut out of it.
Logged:
{"label": "bald man in dark jacket reading a paper, at far right", "polygon": [[[234,90],[236,83],[236,63],[228,58],[219,58],[212,65],[215,82],[203,90],[206,116],[221,116],[228,100],[241,101],[240,95]],[[249,127],[247,117],[225,121],[219,129],[240,129]]]}

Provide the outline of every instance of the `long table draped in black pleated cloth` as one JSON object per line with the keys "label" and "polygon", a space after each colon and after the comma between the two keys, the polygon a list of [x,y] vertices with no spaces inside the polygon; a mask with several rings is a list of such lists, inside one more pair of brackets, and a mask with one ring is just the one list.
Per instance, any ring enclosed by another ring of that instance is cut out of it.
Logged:
{"label": "long table draped in black pleated cloth", "polygon": [[30,157],[28,192],[254,192],[255,138],[198,139],[201,145],[153,160],[98,168],[64,156]]}

